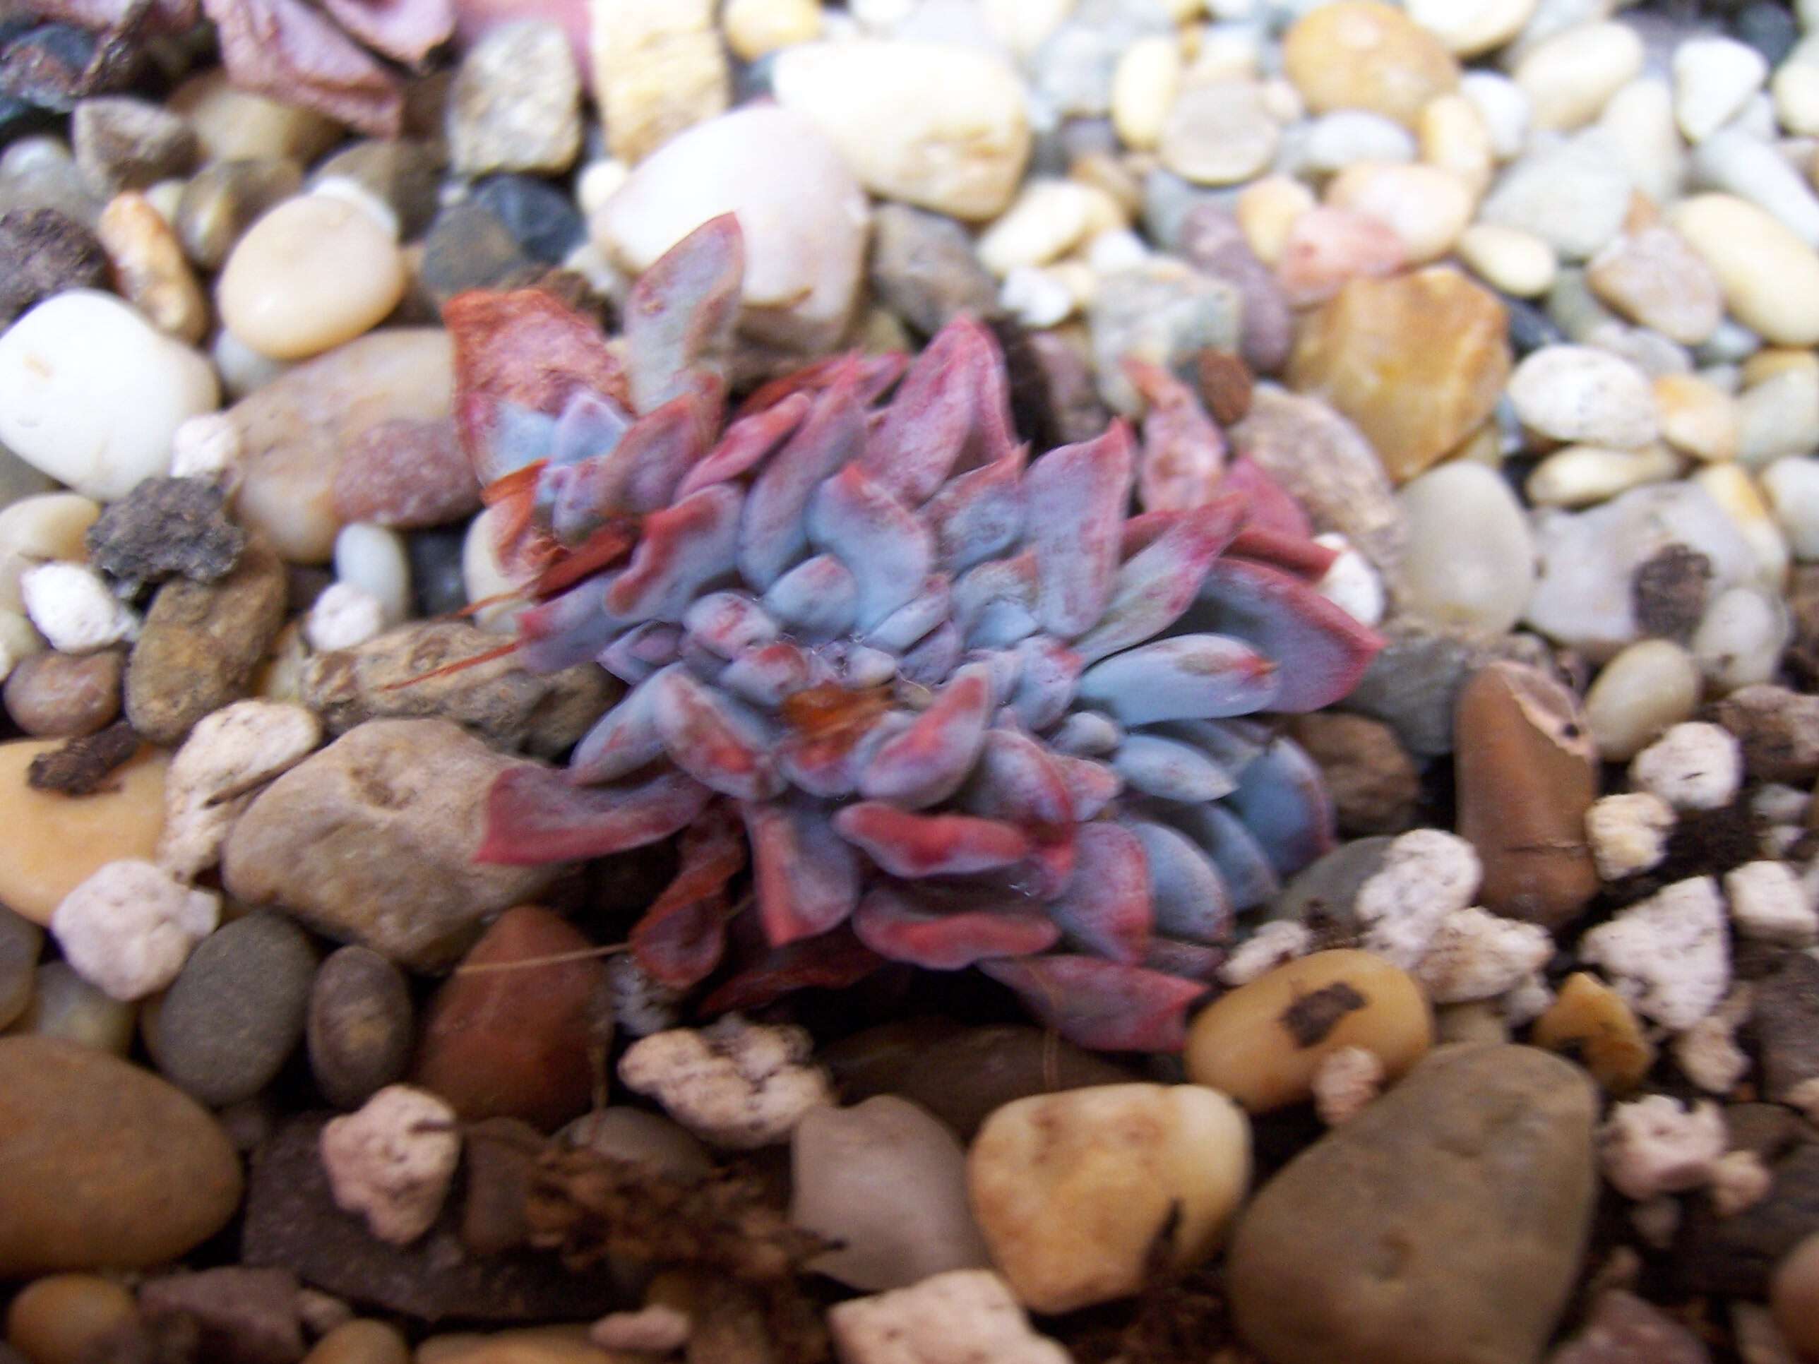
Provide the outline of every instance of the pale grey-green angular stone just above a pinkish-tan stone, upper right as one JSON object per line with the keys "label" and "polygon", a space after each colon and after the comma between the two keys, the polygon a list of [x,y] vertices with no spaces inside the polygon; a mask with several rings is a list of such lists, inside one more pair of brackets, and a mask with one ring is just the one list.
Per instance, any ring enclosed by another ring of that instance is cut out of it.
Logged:
{"label": "pale grey-green angular stone just above a pinkish-tan stone, upper right", "polygon": [[1623,231],[1630,173],[1597,131],[1537,144],[1479,206],[1479,222],[1533,233],[1566,260],[1586,260]]}

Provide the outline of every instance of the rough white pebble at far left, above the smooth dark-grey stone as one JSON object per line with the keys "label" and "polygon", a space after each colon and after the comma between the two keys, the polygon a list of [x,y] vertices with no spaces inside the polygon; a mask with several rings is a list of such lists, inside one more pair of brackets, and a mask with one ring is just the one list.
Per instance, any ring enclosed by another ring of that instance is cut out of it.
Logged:
{"label": "rough white pebble at far left, above the smooth dark-grey stone", "polygon": [[191,889],[151,862],[107,862],[51,911],[71,969],[109,998],[164,989],[220,922],[220,897]]}

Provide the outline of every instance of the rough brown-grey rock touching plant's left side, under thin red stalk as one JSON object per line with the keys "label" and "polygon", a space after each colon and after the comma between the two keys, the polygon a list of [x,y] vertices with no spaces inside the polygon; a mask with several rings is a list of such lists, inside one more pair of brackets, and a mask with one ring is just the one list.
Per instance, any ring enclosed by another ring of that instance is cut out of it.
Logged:
{"label": "rough brown-grey rock touching plant's left side, under thin red stalk", "polygon": [[588,733],[620,689],[593,664],[531,673],[511,655],[429,677],[498,644],[498,635],[466,620],[418,620],[311,658],[302,700],[333,735],[366,720],[435,717],[498,747],[555,757]]}

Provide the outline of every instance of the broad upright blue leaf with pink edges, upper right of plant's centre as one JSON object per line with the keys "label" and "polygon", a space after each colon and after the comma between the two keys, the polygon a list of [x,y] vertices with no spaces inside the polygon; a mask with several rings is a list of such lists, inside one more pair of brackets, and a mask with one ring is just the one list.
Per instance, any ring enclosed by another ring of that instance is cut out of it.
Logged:
{"label": "broad upright blue leaf with pink edges, upper right of plant's centre", "polygon": [[1024,475],[1024,515],[1037,567],[1037,620],[1050,635],[1084,635],[1111,600],[1131,491],[1131,436],[1122,422],[1097,440],[1062,446]]}

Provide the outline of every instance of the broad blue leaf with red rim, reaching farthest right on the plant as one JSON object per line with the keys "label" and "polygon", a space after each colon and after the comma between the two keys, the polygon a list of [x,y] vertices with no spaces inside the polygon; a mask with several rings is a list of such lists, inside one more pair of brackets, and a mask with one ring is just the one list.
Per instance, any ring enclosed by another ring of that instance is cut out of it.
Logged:
{"label": "broad blue leaf with red rim, reaching farthest right on the plant", "polygon": [[1222,558],[1208,569],[1199,602],[1186,618],[1195,629],[1248,640],[1275,660],[1279,687],[1264,706],[1251,709],[1302,713],[1332,706],[1357,686],[1382,649],[1377,631],[1301,578],[1237,558]]}

